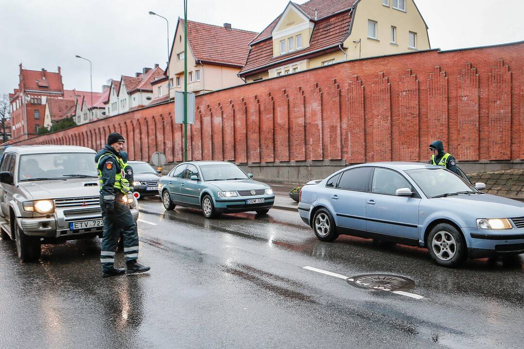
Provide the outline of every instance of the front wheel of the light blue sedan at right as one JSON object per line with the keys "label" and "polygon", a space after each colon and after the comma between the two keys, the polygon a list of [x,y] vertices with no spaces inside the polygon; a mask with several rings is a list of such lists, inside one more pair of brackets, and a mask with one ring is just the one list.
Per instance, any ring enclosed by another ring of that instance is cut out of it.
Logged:
{"label": "front wheel of the light blue sedan at right", "polygon": [[431,229],[426,243],[436,264],[454,267],[466,259],[464,238],[451,224],[437,224]]}

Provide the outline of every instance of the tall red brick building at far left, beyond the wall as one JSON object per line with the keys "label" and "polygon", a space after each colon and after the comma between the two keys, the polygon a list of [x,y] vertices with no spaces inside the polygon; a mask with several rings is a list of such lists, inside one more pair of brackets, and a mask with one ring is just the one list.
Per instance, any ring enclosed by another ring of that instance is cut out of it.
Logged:
{"label": "tall red brick building at far left, beyond the wall", "polygon": [[47,98],[63,98],[60,67],[58,72],[27,70],[20,63],[18,88],[10,98],[12,138],[20,141],[37,136],[43,125]]}

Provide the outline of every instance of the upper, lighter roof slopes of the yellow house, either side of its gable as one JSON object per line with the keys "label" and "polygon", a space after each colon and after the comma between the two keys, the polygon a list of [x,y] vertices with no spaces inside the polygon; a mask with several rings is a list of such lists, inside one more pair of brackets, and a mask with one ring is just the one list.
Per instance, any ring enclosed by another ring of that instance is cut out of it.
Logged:
{"label": "upper, lighter roof slopes of the yellow house, either side of its gable", "polygon": [[[317,19],[322,19],[340,12],[343,9],[350,8],[355,5],[356,2],[357,0],[310,0],[302,5],[296,3],[293,4],[299,7],[311,20],[315,21],[315,9],[317,12]],[[266,29],[260,32],[260,34],[253,39],[252,43],[271,37],[271,33],[273,32],[273,29],[275,29],[282,14],[275,18]]]}

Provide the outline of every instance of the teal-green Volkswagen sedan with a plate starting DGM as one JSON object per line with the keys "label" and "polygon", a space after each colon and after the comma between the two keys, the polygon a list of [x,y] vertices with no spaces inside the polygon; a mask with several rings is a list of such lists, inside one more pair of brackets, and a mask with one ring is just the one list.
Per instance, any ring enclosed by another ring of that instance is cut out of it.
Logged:
{"label": "teal-green Volkswagen sedan with a plate starting DGM", "polygon": [[230,162],[184,162],[160,179],[158,192],[166,210],[175,205],[199,208],[205,218],[247,211],[265,215],[275,195],[269,185],[252,177]]}

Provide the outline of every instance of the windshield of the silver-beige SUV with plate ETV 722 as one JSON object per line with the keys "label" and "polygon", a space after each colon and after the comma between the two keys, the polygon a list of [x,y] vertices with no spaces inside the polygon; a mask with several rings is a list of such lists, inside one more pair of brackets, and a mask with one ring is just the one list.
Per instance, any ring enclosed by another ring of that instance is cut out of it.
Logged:
{"label": "windshield of the silver-beige SUV with plate ETV 722", "polygon": [[94,156],[93,153],[21,155],[18,181],[97,177]]}

